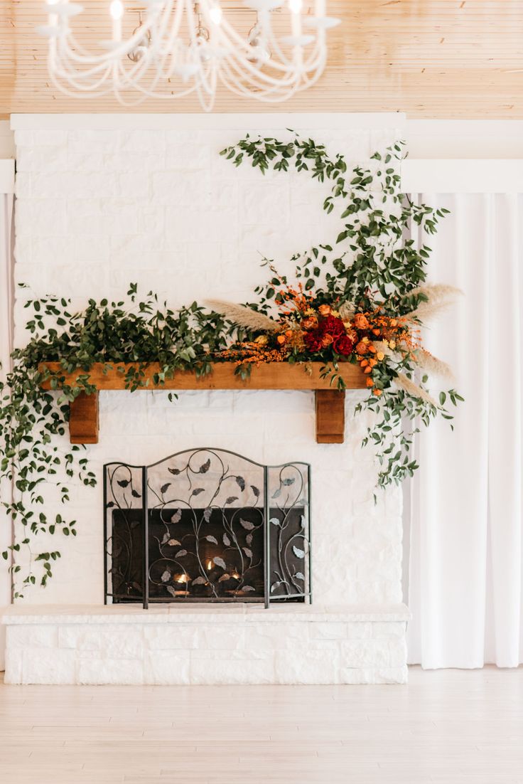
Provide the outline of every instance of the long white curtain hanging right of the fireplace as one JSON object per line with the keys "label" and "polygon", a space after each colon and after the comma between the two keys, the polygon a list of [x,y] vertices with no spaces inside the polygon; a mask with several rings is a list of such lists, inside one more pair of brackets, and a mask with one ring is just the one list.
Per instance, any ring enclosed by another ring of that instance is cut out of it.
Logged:
{"label": "long white curtain hanging right of the fireplace", "polygon": [[523,195],[419,194],[451,214],[427,245],[432,282],[464,292],[427,331],[465,403],[417,440],[409,662],[523,661]]}

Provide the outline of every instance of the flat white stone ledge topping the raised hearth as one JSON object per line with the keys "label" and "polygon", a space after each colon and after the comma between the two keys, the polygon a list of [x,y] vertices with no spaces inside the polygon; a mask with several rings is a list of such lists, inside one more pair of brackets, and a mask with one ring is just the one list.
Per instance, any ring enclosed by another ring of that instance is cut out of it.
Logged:
{"label": "flat white stone ledge topping the raised hearth", "polygon": [[269,610],[261,604],[222,605],[213,608],[209,604],[181,606],[153,606],[144,610],[130,604],[47,604],[38,608],[17,605],[5,610],[0,622],[5,626],[19,624],[82,624],[82,623],[208,623],[217,622],[223,616],[227,623],[285,623],[285,622],[405,622],[410,619],[406,604],[387,606],[294,604],[291,607],[274,606]]}

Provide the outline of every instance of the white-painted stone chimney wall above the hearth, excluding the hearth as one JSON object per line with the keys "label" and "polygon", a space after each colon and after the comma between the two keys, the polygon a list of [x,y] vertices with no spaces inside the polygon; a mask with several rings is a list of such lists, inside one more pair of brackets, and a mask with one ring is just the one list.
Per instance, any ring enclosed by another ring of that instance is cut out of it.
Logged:
{"label": "white-painted stone chimney wall above the hearth, excluding the hearth", "polygon": [[[300,132],[354,163],[365,164],[399,135],[392,123],[385,130],[369,122],[334,128],[328,118],[324,127],[318,118],[309,126],[298,119]],[[38,116],[20,122],[16,281],[38,296],[71,296],[74,307],[85,306],[89,296],[121,299],[129,281],[138,281],[142,292],[157,291],[171,306],[206,297],[243,301],[265,280],[260,253],[288,273],[293,252],[334,241],[337,222],[321,209],[325,185],[305,173],[264,178],[218,155],[256,132],[243,118],[228,120],[213,128],[202,119],[193,129],[176,129],[182,124],[176,118],[167,128],[153,115],[139,122],[115,117],[99,128],[85,127],[84,118],[64,118],[63,125],[53,118],[53,128]],[[258,115],[256,122],[266,126],[267,118]],[[285,125],[288,120],[272,132],[284,136]],[[18,345],[27,341],[25,296],[19,292],[16,301]],[[352,419],[360,395],[348,394],[345,444],[318,445],[308,392],[186,392],[175,404],[161,392],[102,393],[100,442],[88,456],[100,480],[110,460],[152,463],[197,446],[229,448],[266,463],[309,461],[315,601],[397,602],[401,496],[393,490],[374,506],[377,469],[372,452],[359,446],[366,419]],[[78,537],[49,541],[63,557],[48,588],[27,593],[26,601],[103,601],[101,481],[95,490],[74,484],[71,499],[67,514],[78,520]],[[48,501],[51,514],[63,512],[52,488]]]}

